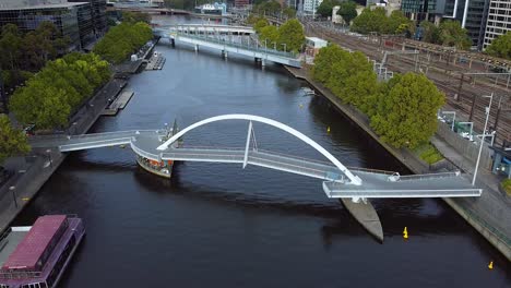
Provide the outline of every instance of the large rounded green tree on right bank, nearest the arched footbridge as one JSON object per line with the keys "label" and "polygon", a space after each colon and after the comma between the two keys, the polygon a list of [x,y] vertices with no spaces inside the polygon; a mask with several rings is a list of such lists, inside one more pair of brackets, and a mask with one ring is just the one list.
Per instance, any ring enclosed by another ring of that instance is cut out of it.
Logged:
{"label": "large rounded green tree on right bank, nearest the arched footbridge", "polygon": [[444,95],[423,74],[395,75],[379,98],[371,127],[394,147],[414,148],[437,130]]}

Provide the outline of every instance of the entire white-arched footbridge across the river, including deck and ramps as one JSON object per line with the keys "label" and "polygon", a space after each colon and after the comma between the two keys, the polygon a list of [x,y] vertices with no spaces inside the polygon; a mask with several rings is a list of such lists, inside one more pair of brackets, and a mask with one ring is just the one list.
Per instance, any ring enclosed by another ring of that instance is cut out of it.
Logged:
{"label": "entire white-arched footbridge across the river, including deck and ramps", "polygon": [[[191,130],[217,121],[248,121],[247,142],[240,148],[194,148],[177,147],[176,142]],[[252,122],[261,122],[277,128],[305,142],[329,161],[304,159],[257,147]],[[308,176],[323,180],[323,191],[328,197],[360,199],[375,197],[465,197],[480,196],[482,189],[471,185],[460,172],[436,175],[400,176],[395,172],[347,168],[321,145],[297,130],[281,122],[251,115],[224,115],[199,121],[171,136],[167,130],[132,130],[55,137],[34,141],[33,147],[58,147],[61,152],[99,148],[116,145],[130,145],[133,152],[154,161],[185,160],[210,163],[236,163],[245,168],[254,165],[270,169]]]}

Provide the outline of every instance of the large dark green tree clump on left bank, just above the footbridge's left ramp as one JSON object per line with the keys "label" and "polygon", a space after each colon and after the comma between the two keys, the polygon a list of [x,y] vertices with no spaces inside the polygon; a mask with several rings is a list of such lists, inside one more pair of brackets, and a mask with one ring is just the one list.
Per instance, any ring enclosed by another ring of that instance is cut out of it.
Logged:
{"label": "large dark green tree clump on left bank, just above the footbridge's left ramp", "polygon": [[71,113],[109,77],[109,65],[98,56],[73,52],[49,61],[24,87],[16,89],[10,108],[22,123],[34,123],[38,129],[62,128]]}

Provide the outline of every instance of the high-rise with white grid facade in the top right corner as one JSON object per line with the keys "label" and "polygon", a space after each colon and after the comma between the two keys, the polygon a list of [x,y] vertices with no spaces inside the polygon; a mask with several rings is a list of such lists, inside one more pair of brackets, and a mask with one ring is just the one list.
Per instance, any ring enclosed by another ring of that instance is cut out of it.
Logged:
{"label": "high-rise with white grid facade in the top right corner", "polygon": [[484,49],[500,35],[511,31],[511,1],[490,0],[484,39]]}

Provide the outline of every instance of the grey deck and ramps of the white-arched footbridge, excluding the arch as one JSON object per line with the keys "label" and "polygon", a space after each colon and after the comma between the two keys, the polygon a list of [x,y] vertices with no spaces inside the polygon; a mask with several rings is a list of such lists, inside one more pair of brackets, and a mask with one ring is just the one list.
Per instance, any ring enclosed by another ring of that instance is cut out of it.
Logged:
{"label": "grey deck and ramps of the white-arched footbridge, excluding the arch", "polygon": [[[242,148],[174,147],[162,153],[156,147],[163,143],[166,133],[165,130],[132,130],[70,137],[40,137],[32,141],[31,145],[33,147],[55,146],[61,152],[71,152],[130,144],[136,154],[154,160],[243,164],[245,149]],[[468,179],[454,172],[400,177],[392,172],[349,168],[363,180],[361,185],[353,185],[347,183],[349,181],[337,167],[328,163],[250,149],[247,164],[325,180],[323,190],[329,197],[456,197],[479,196],[482,193],[480,189],[470,184]]]}

